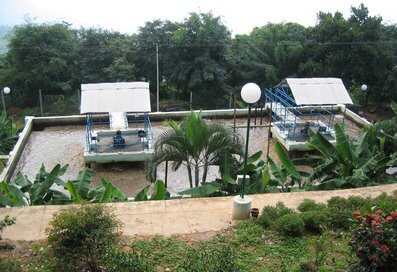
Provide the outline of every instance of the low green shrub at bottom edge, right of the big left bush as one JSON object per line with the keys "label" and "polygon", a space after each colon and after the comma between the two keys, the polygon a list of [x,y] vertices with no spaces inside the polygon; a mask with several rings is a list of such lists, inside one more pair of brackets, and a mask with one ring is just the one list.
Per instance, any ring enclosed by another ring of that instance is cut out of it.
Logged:
{"label": "low green shrub at bottom edge, right of the big left bush", "polygon": [[108,272],[150,272],[154,268],[136,252],[124,252],[121,249],[112,249],[105,258]]}

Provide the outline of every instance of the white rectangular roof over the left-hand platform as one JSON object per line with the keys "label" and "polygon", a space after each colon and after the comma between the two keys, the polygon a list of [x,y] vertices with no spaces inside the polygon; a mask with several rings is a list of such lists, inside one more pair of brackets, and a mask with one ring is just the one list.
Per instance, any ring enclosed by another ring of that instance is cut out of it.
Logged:
{"label": "white rectangular roof over the left-hand platform", "polygon": [[80,113],[150,112],[147,82],[81,84]]}

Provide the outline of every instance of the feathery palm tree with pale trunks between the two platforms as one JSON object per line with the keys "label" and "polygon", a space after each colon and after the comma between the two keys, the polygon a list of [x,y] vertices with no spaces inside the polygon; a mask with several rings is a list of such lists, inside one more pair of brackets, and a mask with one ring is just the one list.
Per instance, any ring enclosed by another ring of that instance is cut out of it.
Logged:
{"label": "feathery palm tree with pale trunks between the two platforms", "polygon": [[178,125],[168,120],[170,127],[161,134],[154,144],[154,155],[147,165],[147,172],[153,179],[157,166],[164,161],[172,161],[172,170],[186,166],[190,188],[197,187],[207,179],[208,167],[219,165],[220,156],[233,155],[242,158],[243,144],[239,135],[219,124],[207,124],[200,114],[191,112]]}

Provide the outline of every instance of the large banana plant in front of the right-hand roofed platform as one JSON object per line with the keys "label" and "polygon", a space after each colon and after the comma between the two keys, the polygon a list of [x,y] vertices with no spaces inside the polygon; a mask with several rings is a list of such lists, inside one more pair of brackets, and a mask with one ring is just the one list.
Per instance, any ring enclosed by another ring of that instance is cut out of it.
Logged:
{"label": "large banana plant in front of the right-hand roofed platform", "polygon": [[321,133],[309,131],[307,146],[317,151],[319,156],[307,185],[335,189],[389,182],[390,177],[385,170],[390,157],[384,154],[384,138],[379,137],[374,126],[365,130],[357,141],[352,141],[344,127],[335,124],[335,146]]}

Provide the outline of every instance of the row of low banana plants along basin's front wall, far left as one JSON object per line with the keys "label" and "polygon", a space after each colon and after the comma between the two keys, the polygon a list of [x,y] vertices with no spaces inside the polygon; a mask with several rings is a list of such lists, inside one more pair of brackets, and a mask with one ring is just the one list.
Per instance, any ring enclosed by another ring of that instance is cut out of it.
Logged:
{"label": "row of low banana plants along basin's front wall, far left", "polygon": [[[10,183],[0,183],[0,207],[6,206],[32,206],[32,205],[53,205],[91,202],[108,203],[125,201],[124,195],[111,182],[102,179],[97,187],[91,187],[91,169],[84,169],[79,172],[75,180],[65,182],[61,176],[66,172],[68,165],[57,164],[47,172],[44,165],[33,181],[29,180],[21,172]],[[70,196],[54,185],[62,186],[69,192]]]}

